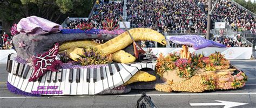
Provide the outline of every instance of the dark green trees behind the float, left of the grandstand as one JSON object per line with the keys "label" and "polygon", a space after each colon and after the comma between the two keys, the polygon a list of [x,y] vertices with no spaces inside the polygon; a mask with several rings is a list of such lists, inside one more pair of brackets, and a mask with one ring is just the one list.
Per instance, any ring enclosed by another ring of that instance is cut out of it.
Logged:
{"label": "dark green trees behind the float, left of the grandstand", "polygon": [[21,18],[38,16],[55,23],[66,17],[88,17],[95,0],[0,0],[0,19],[10,26]]}

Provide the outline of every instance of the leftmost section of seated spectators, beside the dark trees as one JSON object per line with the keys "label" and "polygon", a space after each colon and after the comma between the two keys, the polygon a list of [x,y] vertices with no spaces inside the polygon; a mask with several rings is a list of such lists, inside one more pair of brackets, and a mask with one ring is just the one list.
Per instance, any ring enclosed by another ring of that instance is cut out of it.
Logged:
{"label": "leftmost section of seated spectators, beside the dark trees", "polygon": [[106,18],[113,19],[114,22],[118,22],[119,18],[123,15],[123,3],[99,3],[96,5],[91,17],[85,19],[68,20],[66,24],[68,26],[64,28],[77,29],[81,24],[92,25],[93,28],[102,29],[103,22],[106,22]]}

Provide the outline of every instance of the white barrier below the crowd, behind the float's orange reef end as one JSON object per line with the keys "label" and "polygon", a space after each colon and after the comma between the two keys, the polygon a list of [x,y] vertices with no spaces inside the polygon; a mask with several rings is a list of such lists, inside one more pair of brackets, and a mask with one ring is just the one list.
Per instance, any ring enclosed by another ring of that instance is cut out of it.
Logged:
{"label": "white barrier below the crowd, behind the float's orange reef end", "polygon": [[[153,54],[159,56],[160,53],[167,55],[169,53],[177,52],[179,53],[182,48],[151,48]],[[216,52],[221,52],[224,54],[226,59],[251,59],[252,56],[252,47],[230,47],[230,48],[214,48],[207,47],[199,50],[193,48],[188,48],[188,51],[196,54],[204,54],[209,56],[210,54]]]}

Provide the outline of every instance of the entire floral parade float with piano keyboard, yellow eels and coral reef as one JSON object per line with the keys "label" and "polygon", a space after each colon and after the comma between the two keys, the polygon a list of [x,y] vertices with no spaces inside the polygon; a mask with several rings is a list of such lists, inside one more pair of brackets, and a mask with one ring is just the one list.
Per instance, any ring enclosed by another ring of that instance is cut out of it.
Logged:
{"label": "entire floral parade float with piano keyboard, yellow eels and coral reef", "polygon": [[[171,37],[180,52],[154,56],[136,41],[166,45],[164,35],[149,28],[105,30],[82,24],[65,30],[49,20],[31,16],[17,25],[16,54],[8,56],[8,89],[19,95],[104,95],[131,89],[203,92],[244,87],[246,75],[219,52],[191,54],[194,49],[225,46],[197,35]],[[101,40],[96,43],[93,40]]]}

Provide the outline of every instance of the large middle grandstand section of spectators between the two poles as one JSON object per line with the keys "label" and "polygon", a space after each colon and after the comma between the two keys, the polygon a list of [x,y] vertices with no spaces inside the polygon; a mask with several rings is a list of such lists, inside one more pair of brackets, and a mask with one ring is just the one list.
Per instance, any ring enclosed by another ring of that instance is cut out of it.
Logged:
{"label": "large middle grandstand section of spectators between the two poles", "polygon": [[126,12],[132,27],[165,32],[206,32],[207,16],[194,2],[127,1]]}

